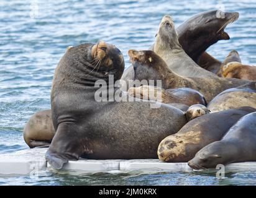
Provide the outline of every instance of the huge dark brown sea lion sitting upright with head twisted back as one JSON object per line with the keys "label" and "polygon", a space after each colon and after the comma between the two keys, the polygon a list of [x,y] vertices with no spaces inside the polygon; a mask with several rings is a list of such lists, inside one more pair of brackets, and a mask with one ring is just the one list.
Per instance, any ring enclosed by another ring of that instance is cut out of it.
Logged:
{"label": "huge dark brown sea lion sitting upright with head twisted back", "polygon": [[45,154],[53,168],[81,156],[157,158],[160,141],[186,124],[183,111],[173,106],[118,101],[114,85],[123,71],[121,51],[104,41],[74,46],[60,59],[51,92],[56,134]]}

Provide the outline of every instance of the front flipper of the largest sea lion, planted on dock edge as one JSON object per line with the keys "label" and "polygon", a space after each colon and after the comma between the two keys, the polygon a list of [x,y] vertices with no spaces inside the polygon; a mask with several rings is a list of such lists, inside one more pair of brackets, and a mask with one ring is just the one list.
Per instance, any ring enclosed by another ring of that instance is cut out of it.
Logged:
{"label": "front flipper of the largest sea lion, planted on dock edge", "polygon": [[57,132],[53,137],[45,159],[52,168],[60,170],[68,160],[78,160],[83,154],[78,128],[74,123],[61,123],[58,125]]}

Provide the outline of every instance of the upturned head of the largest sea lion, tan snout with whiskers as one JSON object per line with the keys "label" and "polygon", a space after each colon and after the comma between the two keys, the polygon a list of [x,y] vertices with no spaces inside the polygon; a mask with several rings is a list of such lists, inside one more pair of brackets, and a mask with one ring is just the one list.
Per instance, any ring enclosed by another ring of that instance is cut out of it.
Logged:
{"label": "upturned head of the largest sea lion, tan snout with whiskers", "polygon": [[124,56],[115,45],[98,41],[91,47],[91,65],[96,71],[114,74],[115,79],[121,79],[124,72]]}

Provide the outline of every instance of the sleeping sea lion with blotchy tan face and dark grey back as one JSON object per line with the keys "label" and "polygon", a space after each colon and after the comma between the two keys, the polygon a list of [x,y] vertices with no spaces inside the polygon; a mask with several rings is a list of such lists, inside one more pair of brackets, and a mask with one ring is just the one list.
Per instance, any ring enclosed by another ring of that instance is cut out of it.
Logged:
{"label": "sleeping sea lion with blotchy tan face and dark grey back", "polygon": [[204,146],[221,140],[242,116],[254,111],[256,111],[254,108],[242,107],[195,118],[176,134],[162,140],[158,147],[158,157],[167,162],[189,161]]}

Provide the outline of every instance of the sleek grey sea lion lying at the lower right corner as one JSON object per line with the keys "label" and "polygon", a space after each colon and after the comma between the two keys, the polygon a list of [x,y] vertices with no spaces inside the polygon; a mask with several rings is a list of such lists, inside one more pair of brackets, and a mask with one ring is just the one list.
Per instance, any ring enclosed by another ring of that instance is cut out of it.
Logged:
{"label": "sleek grey sea lion lying at the lower right corner", "polygon": [[196,170],[240,161],[256,161],[256,112],[245,115],[221,140],[199,150],[188,165]]}

